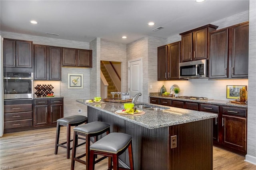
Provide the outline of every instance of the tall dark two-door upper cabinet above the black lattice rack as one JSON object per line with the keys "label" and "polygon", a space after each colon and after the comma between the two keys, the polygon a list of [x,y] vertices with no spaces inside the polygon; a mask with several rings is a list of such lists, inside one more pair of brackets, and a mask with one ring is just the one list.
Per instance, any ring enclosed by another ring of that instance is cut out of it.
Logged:
{"label": "tall dark two-door upper cabinet above the black lattice rack", "polygon": [[34,79],[61,80],[61,49],[34,45]]}

